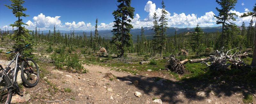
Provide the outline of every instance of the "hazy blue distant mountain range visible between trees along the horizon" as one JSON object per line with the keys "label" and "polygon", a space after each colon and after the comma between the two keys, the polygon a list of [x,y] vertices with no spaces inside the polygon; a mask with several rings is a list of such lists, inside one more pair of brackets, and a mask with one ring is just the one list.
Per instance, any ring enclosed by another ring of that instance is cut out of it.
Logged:
{"label": "hazy blue distant mountain range visible between trees along the horizon", "polygon": [[[241,29],[240,26],[238,26],[238,28]],[[152,39],[153,36],[152,34],[154,33],[153,30],[151,30],[152,27],[145,27],[144,28],[144,35],[147,37],[147,39]],[[175,30],[176,33],[183,33],[183,32],[188,32],[188,31],[194,31],[195,28],[176,28],[176,27],[169,27],[166,31],[167,36],[173,36],[175,34]],[[204,33],[211,33],[211,32],[216,32],[219,31],[221,32],[222,27],[218,26],[218,27],[201,27],[201,29],[204,31]],[[3,32],[3,31],[2,31]],[[41,34],[42,31],[40,31]],[[52,32],[52,30],[51,30]],[[73,30],[71,30],[71,32],[73,32]],[[75,34],[77,35],[83,35],[83,32],[86,32],[86,36],[90,36],[90,31],[84,31],[84,30],[74,30]],[[111,39],[111,37],[113,36],[113,33],[111,32],[111,30],[98,30],[99,35],[101,37],[105,37],[105,39]],[[136,40],[137,35],[140,36],[140,29],[131,29],[130,33],[132,34],[132,39]],[[12,33],[12,30],[9,30],[9,33]],[[49,33],[49,30],[44,30],[43,31],[44,35],[46,33]],[[60,30],[60,33],[63,33],[63,35],[65,33],[70,34],[70,30],[66,31],[66,30]],[[94,30],[92,30],[92,35],[94,35]]]}

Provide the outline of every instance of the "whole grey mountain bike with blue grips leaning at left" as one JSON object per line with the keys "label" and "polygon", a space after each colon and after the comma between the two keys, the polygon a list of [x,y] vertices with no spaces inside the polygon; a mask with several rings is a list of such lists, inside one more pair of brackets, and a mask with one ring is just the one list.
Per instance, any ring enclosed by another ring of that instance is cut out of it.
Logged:
{"label": "whole grey mountain bike with blue grips leaning at left", "polygon": [[[8,104],[12,99],[12,92],[20,96],[22,92],[18,87],[17,75],[18,71],[21,72],[22,82],[28,85],[28,87],[35,87],[39,81],[39,69],[36,62],[31,58],[25,58],[21,55],[21,49],[28,47],[30,44],[27,44],[25,47],[15,49],[13,51],[7,52],[16,53],[12,61],[7,65],[6,68],[3,68],[0,65],[0,101],[1,103]],[[10,65],[12,62],[15,62],[14,68],[11,69]],[[21,65],[20,65],[21,63]],[[21,68],[20,68],[21,66]],[[15,90],[16,89],[16,90]]]}

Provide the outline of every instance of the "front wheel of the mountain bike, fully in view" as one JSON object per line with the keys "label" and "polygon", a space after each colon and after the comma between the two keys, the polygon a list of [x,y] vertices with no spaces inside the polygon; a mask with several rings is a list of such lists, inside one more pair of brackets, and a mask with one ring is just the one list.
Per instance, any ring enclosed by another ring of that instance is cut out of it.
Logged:
{"label": "front wheel of the mountain bike, fully in view", "polygon": [[21,79],[29,87],[35,87],[39,81],[39,69],[36,62],[31,58],[21,63]]}

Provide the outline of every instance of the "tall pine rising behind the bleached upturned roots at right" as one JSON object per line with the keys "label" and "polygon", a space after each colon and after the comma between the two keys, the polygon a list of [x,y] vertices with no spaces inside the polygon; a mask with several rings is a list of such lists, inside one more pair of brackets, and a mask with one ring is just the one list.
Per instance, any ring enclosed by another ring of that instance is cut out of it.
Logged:
{"label": "tall pine rising behind the bleached upturned roots at right", "polygon": [[231,9],[235,9],[234,6],[236,5],[237,0],[216,0],[216,2],[221,6],[221,9],[216,7],[219,15],[214,15],[214,17],[218,19],[216,21],[216,24],[222,24],[219,48],[222,48],[224,46],[225,49],[227,49],[231,41],[231,34],[228,34],[227,31],[229,31],[234,24],[231,23],[230,20],[236,21],[236,18],[234,16],[237,16],[236,13],[230,13],[229,11]]}

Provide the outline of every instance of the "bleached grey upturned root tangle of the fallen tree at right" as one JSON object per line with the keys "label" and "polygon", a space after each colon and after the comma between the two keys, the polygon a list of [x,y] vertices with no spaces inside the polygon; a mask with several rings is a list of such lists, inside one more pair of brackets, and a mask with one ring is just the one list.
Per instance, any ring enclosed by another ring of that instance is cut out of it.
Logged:
{"label": "bleached grey upturned root tangle of the fallen tree at right", "polygon": [[[224,47],[223,47],[224,48]],[[223,49],[222,48],[222,49]],[[244,64],[243,61],[241,61],[240,57],[237,55],[238,52],[234,54],[228,55],[228,52],[230,52],[233,49],[230,49],[227,53],[224,54],[222,51],[216,50],[216,55],[210,55],[211,62],[208,64],[207,62],[203,61],[201,63],[204,63],[207,67],[210,67],[212,70],[220,70],[225,71],[231,63],[226,63],[227,61],[232,62],[233,68],[239,68],[240,64]]]}

